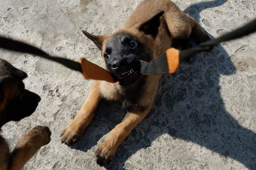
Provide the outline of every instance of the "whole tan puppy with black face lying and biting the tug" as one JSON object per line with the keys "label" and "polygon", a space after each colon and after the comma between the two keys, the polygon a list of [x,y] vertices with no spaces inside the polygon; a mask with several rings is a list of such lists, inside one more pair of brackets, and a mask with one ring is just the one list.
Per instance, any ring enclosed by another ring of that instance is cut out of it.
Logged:
{"label": "whole tan puppy with black face lying and biting the tug", "polygon": [[97,163],[108,164],[118,146],[150,111],[161,75],[140,74],[140,62],[155,59],[172,46],[173,39],[195,38],[197,43],[209,39],[200,25],[169,0],[145,0],[138,5],[124,27],[111,36],[94,36],[86,31],[102,51],[108,70],[116,83],[95,81],[92,90],[71,122],[61,133],[61,142],[74,143],[92,122],[100,99],[119,101],[127,114],[97,150]]}

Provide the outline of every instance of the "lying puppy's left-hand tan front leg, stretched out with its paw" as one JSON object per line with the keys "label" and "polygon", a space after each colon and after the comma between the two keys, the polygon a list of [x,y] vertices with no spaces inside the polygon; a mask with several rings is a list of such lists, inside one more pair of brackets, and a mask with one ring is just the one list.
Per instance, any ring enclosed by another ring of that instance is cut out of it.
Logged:
{"label": "lying puppy's left-hand tan front leg, stretched out with its paw", "polygon": [[102,97],[99,91],[99,81],[95,81],[82,108],[79,110],[74,120],[61,132],[61,143],[70,145],[77,141],[86,127],[92,122],[94,111],[100,99],[102,99]]}

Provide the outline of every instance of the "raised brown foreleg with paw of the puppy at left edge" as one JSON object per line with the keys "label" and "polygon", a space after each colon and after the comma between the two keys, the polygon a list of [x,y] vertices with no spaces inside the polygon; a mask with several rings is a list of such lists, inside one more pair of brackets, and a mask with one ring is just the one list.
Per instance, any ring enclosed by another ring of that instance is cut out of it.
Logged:
{"label": "raised brown foreleg with paw of the puppy at left edge", "polygon": [[47,145],[51,140],[51,131],[48,127],[37,126],[26,132],[19,139],[15,149],[10,155],[10,170],[20,170],[41,146]]}

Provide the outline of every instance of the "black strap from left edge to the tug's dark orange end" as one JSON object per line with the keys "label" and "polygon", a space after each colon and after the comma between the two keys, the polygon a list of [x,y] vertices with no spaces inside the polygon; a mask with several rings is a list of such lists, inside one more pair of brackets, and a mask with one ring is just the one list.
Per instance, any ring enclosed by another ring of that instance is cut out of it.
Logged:
{"label": "black strap from left edge to the tug's dark orange end", "polygon": [[60,64],[63,64],[64,66],[72,70],[82,71],[81,65],[79,64],[79,62],[61,58],[61,57],[51,56],[45,53],[44,51],[40,50],[39,48],[36,48],[35,46],[32,46],[32,45],[28,45],[21,41],[16,41],[16,40],[12,40],[12,39],[8,39],[8,38],[4,38],[3,36],[0,36],[0,48],[4,48],[6,50],[12,50],[15,52],[30,53],[33,55],[38,55],[40,57],[43,57],[44,59],[59,62]]}

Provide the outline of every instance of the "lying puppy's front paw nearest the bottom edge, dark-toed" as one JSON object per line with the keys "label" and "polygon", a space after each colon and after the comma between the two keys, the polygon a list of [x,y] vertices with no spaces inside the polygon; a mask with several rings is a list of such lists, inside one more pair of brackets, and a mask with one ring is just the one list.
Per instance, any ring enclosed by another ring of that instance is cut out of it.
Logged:
{"label": "lying puppy's front paw nearest the bottom edge, dark-toed", "polygon": [[116,149],[111,141],[103,141],[95,152],[97,164],[107,166],[109,161],[113,159]]}

